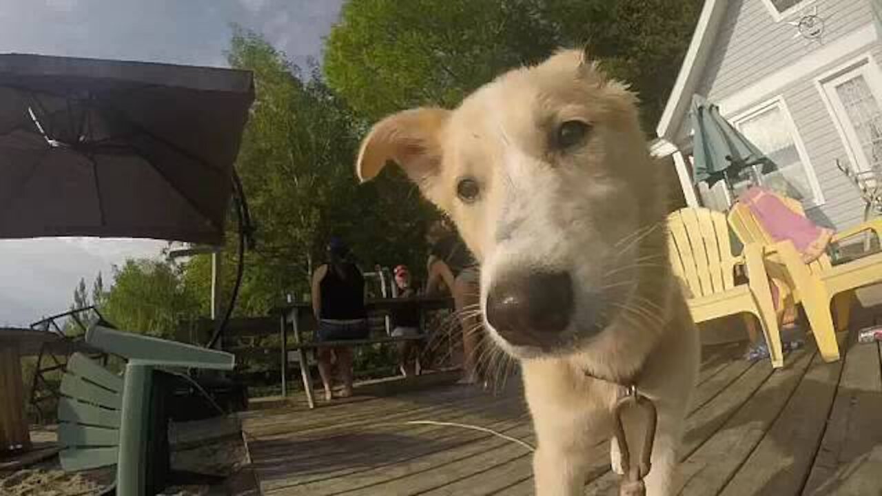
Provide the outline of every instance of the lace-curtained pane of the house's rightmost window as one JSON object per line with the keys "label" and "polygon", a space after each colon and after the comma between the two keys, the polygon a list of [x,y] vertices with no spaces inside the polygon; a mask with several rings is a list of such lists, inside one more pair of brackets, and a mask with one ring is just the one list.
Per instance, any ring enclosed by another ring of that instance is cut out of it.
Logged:
{"label": "lace-curtained pane of the house's rightmost window", "polygon": [[871,169],[882,169],[882,109],[863,74],[836,86],[836,94],[855,129]]}

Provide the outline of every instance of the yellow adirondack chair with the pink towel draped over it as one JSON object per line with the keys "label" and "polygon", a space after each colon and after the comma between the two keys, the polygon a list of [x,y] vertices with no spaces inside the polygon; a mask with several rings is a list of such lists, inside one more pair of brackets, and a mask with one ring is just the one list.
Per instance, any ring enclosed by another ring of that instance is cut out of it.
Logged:
{"label": "yellow adirondack chair with the pink towel draped over it", "polygon": [[[805,215],[802,205],[795,199],[776,196],[796,214]],[[793,243],[776,243],[753,216],[750,208],[736,203],[729,210],[729,226],[742,243],[763,245],[769,274],[774,280],[789,286],[795,303],[803,304],[821,357],[827,362],[838,360],[840,354],[835,331],[848,329],[854,289],[882,282],[882,253],[837,266],[833,266],[830,257],[822,254],[818,259],[805,264]],[[863,222],[855,228],[836,233],[831,243],[840,243],[868,230],[882,239],[882,219]]]}

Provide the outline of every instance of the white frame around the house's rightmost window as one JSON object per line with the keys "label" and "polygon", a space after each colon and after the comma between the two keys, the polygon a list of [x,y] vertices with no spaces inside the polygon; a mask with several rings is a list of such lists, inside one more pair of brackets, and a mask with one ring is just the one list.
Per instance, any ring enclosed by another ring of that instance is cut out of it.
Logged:
{"label": "white frame around the house's rightmost window", "polygon": [[856,56],[832,71],[826,71],[815,78],[814,82],[815,87],[818,88],[818,93],[821,95],[821,100],[824,101],[827,113],[830,115],[830,119],[833,120],[833,127],[839,133],[842,147],[845,148],[845,154],[848,156],[848,162],[851,163],[856,172],[865,172],[870,170],[869,158],[863,154],[861,140],[857,137],[853,126],[842,121],[842,119],[848,118],[848,115],[845,113],[845,109],[842,108],[839,97],[836,97],[834,100],[829,91],[833,89],[832,85],[835,82],[848,79],[856,71],[861,71],[867,79],[870,91],[882,103],[882,69],[879,69],[879,65],[870,52]]}

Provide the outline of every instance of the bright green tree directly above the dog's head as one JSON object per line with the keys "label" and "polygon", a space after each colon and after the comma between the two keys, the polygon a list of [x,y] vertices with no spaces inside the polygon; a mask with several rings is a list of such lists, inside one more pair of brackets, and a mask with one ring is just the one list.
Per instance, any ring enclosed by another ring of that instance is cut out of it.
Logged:
{"label": "bright green tree directly above the dog's head", "polygon": [[452,107],[498,73],[587,45],[632,83],[652,132],[700,0],[349,0],[325,48],[328,83],[371,121]]}

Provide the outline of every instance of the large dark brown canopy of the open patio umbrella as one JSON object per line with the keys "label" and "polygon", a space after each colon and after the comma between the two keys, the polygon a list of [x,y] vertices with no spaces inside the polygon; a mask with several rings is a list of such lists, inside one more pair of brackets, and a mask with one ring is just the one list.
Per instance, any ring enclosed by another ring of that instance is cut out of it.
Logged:
{"label": "large dark brown canopy of the open patio umbrella", "polygon": [[0,238],[221,244],[251,73],[0,55]]}

